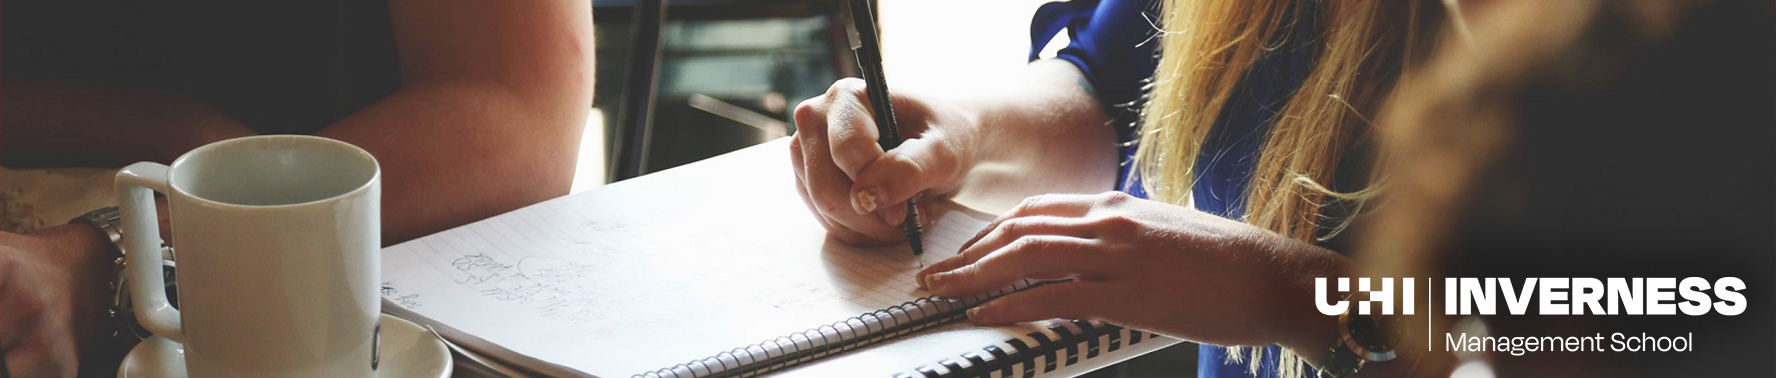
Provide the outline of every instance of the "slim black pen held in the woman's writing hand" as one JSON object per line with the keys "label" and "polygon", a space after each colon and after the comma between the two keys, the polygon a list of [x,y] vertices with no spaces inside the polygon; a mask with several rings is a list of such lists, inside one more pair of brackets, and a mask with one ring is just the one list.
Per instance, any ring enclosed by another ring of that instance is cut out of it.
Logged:
{"label": "slim black pen held in the woman's writing hand", "polygon": [[[870,7],[870,0],[851,0],[849,5],[851,53],[858,57],[858,71],[863,75],[865,92],[870,96],[870,106],[876,108],[876,131],[879,133],[876,144],[881,144],[883,151],[890,151],[900,146],[900,126],[895,124],[893,105],[888,101],[888,78],[883,76],[883,50],[876,32],[874,7]],[[906,199],[906,220],[900,222],[900,232],[913,245],[913,256],[920,256],[925,252],[925,245],[920,243],[924,227],[918,224],[915,199]]]}

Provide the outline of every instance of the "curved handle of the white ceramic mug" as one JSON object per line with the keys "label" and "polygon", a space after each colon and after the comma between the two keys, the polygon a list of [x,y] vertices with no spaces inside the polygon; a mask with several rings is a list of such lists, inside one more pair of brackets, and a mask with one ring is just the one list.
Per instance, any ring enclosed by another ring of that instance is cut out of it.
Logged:
{"label": "curved handle of the white ceramic mug", "polygon": [[155,213],[155,192],[172,193],[167,185],[167,165],[131,163],[117,170],[117,202],[123,209],[124,266],[130,273],[130,296],[135,318],[155,335],[185,343],[179,309],[167,302],[167,282],[160,264],[160,218]]}

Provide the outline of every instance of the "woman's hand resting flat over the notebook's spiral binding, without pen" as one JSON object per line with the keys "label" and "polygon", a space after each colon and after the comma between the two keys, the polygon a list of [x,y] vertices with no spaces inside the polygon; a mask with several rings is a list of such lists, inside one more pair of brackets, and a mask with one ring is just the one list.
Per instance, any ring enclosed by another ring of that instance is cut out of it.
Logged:
{"label": "woman's hand resting flat over the notebook's spiral binding, without pen", "polygon": [[968,318],[1103,319],[1197,343],[1300,350],[1337,339],[1337,319],[1312,305],[1312,282],[1346,264],[1249,224],[1112,192],[1030,197],[920,272],[918,284],[970,296],[1023,279],[1071,279],[1000,296]]}

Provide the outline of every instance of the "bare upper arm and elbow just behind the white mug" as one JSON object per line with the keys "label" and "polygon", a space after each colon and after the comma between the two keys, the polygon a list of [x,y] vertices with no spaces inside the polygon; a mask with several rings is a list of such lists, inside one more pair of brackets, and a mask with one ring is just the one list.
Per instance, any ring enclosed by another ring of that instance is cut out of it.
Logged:
{"label": "bare upper arm and elbow just behind the white mug", "polygon": [[318,135],[384,170],[384,243],[565,195],[591,110],[591,4],[392,0],[401,89]]}

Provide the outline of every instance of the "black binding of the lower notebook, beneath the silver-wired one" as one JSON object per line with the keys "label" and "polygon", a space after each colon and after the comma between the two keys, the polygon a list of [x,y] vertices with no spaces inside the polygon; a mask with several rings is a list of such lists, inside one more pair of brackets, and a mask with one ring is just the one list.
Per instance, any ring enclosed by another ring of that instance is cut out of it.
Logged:
{"label": "black binding of the lower notebook, beneath the silver-wired one", "polygon": [[[950,376],[1032,378],[1037,374],[1037,371],[1051,373],[1058,367],[1073,366],[1078,364],[1080,360],[1096,358],[1101,353],[1121,350],[1124,344],[1133,346],[1140,344],[1144,339],[1160,337],[1158,334],[1122,328],[1099,321],[1082,321],[1082,319],[1050,325],[1048,332],[1055,334],[1057,337],[1050,339],[1050,335],[1044,332],[1030,332],[1028,337],[1035,341],[1034,346],[1030,343],[1025,343],[1021,337],[1005,339],[1003,344],[1011,346],[1011,351],[1000,348],[998,344],[989,344],[980,348],[980,351],[961,353],[961,360],[955,358],[938,360],[934,366],[920,366],[913,369],[916,374],[900,373],[895,374],[895,378],[950,378]],[[1066,351],[1064,357],[1062,351]],[[1043,358],[1041,369],[1035,364],[1037,358]],[[1066,362],[1062,362],[1062,358]],[[1019,366],[1023,369],[1016,369]]]}

